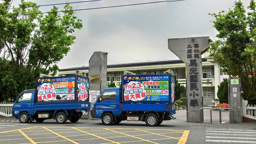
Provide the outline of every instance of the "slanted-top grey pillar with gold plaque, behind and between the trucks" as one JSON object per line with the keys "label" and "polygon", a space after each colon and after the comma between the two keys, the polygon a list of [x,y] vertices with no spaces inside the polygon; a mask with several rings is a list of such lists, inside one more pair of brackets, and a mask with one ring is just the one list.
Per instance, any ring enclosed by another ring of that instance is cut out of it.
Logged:
{"label": "slanted-top grey pillar with gold plaque, behind and between the trucks", "polygon": [[[107,52],[95,51],[89,60],[89,94],[90,91],[99,91],[99,93],[101,93],[107,88],[107,54]],[[98,96],[99,95],[93,100],[97,100]],[[95,103],[95,101],[92,100],[90,102],[91,106]],[[89,112],[88,120],[91,119],[92,117]]]}

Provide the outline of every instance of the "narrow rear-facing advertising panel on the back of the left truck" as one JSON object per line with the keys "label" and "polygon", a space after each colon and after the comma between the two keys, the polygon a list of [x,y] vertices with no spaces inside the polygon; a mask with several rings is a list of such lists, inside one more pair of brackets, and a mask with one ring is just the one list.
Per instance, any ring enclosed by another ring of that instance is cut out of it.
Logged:
{"label": "narrow rear-facing advertising panel on the back of the left truck", "polygon": [[77,76],[77,98],[78,101],[89,102],[89,79]]}

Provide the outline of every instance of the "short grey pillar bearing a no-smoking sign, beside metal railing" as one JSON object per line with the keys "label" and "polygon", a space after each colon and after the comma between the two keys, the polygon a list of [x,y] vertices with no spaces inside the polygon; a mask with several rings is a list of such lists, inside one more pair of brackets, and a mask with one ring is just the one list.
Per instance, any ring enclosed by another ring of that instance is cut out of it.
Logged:
{"label": "short grey pillar bearing a no-smoking sign, beside metal railing", "polygon": [[[241,78],[228,78],[228,104],[234,110],[235,123],[243,123]],[[232,110],[229,110],[229,120],[233,123]]]}

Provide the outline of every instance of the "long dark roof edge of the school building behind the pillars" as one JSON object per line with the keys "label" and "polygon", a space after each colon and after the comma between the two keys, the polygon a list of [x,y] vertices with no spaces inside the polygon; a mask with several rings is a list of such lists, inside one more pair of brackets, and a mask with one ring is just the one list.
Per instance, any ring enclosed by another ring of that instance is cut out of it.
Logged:
{"label": "long dark roof edge of the school building behind the pillars", "polygon": [[[202,62],[207,61],[206,58],[202,58]],[[168,60],[168,61],[150,61],[150,62],[140,62],[140,63],[123,63],[123,64],[108,64],[107,68],[123,68],[123,67],[133,67],[133,66],[152,66],[152,65],[164,65],[164,64],[178,64],[184,63],[182,60]],[[74,68],[63,68],[59,71],[75,71],[75,70],[87,70],[89,66],[74,67]]]}

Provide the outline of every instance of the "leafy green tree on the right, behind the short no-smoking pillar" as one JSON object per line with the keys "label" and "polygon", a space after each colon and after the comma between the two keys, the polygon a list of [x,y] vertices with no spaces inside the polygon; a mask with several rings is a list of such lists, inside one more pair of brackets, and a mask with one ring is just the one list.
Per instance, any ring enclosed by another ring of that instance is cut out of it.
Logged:
{"label": "leafy green tree on the right, behind the short no-smoking pillar", "polygon": [[209,39],[210,56],[230,77],[241,78],[242,96],[249,103],[256,101],[256,75],[253,75],[256,70],[255,7],[251,0],[246,14],[239,0],[227,12],[210,14],[215,18],[213,27],[219,32],[218,40]]}

